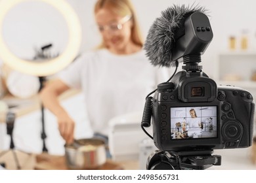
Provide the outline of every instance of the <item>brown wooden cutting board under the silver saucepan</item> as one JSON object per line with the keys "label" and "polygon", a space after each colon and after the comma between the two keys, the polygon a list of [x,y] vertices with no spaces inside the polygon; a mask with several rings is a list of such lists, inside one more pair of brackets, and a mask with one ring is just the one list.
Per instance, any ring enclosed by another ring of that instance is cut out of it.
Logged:
{"label": "brown wooden cutting board under the silver saucepan", "polygon": [[[53,156],[50,154],[39,154],[35,157],[35,170],[68,170],[64,156]],[[108,159],[98,170],[122,170],[123,167]]]}

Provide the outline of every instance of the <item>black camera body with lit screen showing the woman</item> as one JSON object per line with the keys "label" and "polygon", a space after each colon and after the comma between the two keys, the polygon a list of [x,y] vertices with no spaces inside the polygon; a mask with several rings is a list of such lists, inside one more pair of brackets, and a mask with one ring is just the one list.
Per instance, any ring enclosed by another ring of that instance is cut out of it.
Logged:
{"label": "black camera body with lit screen showing the woman", "polygon": [[152,101],[153,138],[160,150],[251,146],[255,103],[242,88],[217,87],[202,71],[181,71],[158,85]]}

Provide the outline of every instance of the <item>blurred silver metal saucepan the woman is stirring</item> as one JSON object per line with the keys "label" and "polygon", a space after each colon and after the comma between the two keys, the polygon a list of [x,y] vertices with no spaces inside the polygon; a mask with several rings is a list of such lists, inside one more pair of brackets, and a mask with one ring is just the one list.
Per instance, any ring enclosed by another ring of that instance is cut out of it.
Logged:
{"label": "blurred silver metal saucepan the woman is stirring", "polygon": [[100,139],[80,139],[65,146],[69,169],[96,169],[106,163],[106,148]]}

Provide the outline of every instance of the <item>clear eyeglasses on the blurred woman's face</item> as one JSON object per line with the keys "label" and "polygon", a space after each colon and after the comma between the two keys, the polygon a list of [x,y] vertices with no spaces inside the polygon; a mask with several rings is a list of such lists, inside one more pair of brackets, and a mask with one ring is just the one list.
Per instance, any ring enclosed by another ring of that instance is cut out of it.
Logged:
{"label": "clear eyeglasses on the blurred woman's face", "polygon": [[123,24],[128,22],[130,19],[131,19],[131,15],[127,15],[127,16],[123,17],[116,24],[98,25],[98,30],[100,31],[100,33],[104,32],[104,31],[110,31],[110,32],[114,33],[116,31],[119,31],[119,30],[123,29]]}

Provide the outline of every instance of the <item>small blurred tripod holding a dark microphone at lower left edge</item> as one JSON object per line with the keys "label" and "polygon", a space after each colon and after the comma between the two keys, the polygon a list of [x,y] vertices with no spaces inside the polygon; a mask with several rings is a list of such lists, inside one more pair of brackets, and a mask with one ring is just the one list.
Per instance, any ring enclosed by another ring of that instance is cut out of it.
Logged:
{"label": "small blurred tripod holding a dark microphone at lower left edge", "polygon": [[11,150],[12,155],[14,157],[14,162],[15,162],[15,165],[16,165],[16,169],[20,170],[21,167],[20,167],[20,163],[18,161],[18,156],[16,154],[15,146],[14,146],[14,142],[13,142],[13,138],[12,138],[12,131],[13,131],[13,128],[14,128],[14,121],[15,121],[15,114],[13,112],[8,112],[7,113],[6,124],[7,124],[7,134],[10,135],[10,137],[11,137],[10,149],[1,152],[0,157],[4,156],[7,152],[9,152]]}

